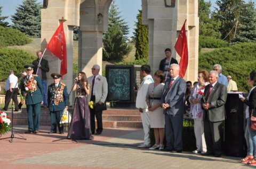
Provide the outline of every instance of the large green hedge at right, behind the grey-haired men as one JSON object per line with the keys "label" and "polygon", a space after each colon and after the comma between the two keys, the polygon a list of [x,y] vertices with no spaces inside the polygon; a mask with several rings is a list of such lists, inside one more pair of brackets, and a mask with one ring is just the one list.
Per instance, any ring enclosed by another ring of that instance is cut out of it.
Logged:
{"label": "large green hedge at right, behind the grey-haired men", "polygon": [[238,90],[248,91],[246,78],[255,70],[256,43],[241,43],[226,48],[215,49],[208,53],[199,53],[198,70],[211,71],[214,64],[222,66],[222,74],[231,75]]}

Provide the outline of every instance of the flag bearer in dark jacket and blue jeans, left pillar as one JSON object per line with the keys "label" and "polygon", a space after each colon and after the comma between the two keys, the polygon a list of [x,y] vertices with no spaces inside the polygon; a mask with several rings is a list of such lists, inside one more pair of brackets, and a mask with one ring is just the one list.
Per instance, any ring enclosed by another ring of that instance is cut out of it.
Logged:
{"label": "flag bearer in dark jacket and blue jeans, left pillar", "polygon": [[[47,107],[47,77],[46,72],[49,72],[49,64],[48,61],[42,58],[42,51],[39,50],[36,52],[37,60],[33,61],[34,72],[33,74],[37,74],[39,78],[42,80],[43,85],[43,101],[44,101],[44,108]],[[41,61],[40,61],[41,60]]]}

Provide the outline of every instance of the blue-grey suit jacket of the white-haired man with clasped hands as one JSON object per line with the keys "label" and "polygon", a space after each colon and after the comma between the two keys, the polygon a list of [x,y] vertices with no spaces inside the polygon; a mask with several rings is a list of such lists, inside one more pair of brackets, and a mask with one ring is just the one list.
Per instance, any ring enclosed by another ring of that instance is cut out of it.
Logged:
{"label": "blue-grey suit jacket of the white-haired man with clasped hands", "polygon": [[186,81],[178,77],[176,80],[174,80],[174,82],[172,83],[172,87],[166,94],[170,82],[171,78],[167,79],[161,98],[162,103],[167,103],[170,106],[164,110],[164,114],[183,115],[185,113],[184,100],[187,88]]}

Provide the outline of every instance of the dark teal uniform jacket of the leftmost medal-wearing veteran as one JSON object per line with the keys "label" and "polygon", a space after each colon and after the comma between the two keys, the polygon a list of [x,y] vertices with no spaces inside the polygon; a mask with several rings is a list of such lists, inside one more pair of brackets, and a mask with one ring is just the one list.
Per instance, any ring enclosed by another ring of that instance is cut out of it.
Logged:
{"label": "dark teal uniform jacket of the leftmost medal-wearing veteran", "polygon": [[[42,85],[42,80],[37,77],[36,75],[33,75],[34,79],[37,81],[37,89],[34,92],[29,92],[26,96],[26,105],[34,105],[37,103],[41,103],[43,100],[43,85]],[[26,89],[24,86],[24,81],[26,80],[27,77],[24,77],[21,79],[21,94],[24,96],[26,93]]]}

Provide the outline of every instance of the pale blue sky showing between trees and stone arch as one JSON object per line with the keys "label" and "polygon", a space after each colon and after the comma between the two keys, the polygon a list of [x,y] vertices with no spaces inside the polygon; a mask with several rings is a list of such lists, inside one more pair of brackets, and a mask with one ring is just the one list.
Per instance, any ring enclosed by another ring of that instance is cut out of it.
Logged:
{"label": "pale blue sky showing between trees and stone arch", "polygon": [[[11,15],[13,15],[16,12],[16,7],[22,4],[23,0],[0,0],[0,6],[3,6],[2,8],[2,16],[9,16],[8,19],[6,19],[7,22],[11,22]],[[54,0],[50,0],[54,1]],[[164,0],[163,0],[164,1]],[[206,2],[209,2],[205,0]],[[248,2],[249,0],[245,0],[245,2]],[[38,3],[43,4],[43,0],[37,0]],[[212,9],[215,5],[216,0],[211,0],[212,3]],[[256,0],[253,0],[253,2],[256,4]],[[134,31],[134,24],[137,21],[136,16],[138,14],[138,10],[141,10],[141,0],[116,0],[116,5],[118,7],[118,11],[121,12],[123,15],[123,18],[129,25],[129,37],[133,36]]]}

